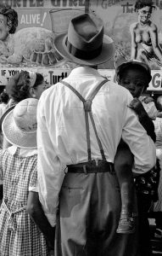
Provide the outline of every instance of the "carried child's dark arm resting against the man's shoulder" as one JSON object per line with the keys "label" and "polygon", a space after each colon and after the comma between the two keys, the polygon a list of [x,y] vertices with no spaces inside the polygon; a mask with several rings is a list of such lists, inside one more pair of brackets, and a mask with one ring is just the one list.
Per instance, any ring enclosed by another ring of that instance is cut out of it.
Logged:
{"label": "carried child's dark arm resting against the man's shoulder", "polygon": [[148,113],[143,108],[142,102],[140,102],[139,99],[134,98],[128,107],[132,108],[137,113],[141,125],[147,131],[148,136],[150,136],[155,143],[156,135],[154,132],[154,123],[148,117]]}

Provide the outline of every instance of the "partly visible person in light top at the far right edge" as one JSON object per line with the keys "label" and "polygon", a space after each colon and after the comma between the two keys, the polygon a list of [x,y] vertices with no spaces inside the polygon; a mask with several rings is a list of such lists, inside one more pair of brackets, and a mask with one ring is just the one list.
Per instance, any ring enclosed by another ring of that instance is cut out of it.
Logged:
{"label": "partly visible person in light top at the far right edge", "polygon": [[[156,107],[159,112],[162,111],[162,96],[159,96],[156,101]],[[154,203],[154,218],[156,230],[154,236],[162,239],[162,119],[157,118],[154,120],[154,127],[156,133],[156,156],[159,159],[160,176],[159,176],[159,200]]]}

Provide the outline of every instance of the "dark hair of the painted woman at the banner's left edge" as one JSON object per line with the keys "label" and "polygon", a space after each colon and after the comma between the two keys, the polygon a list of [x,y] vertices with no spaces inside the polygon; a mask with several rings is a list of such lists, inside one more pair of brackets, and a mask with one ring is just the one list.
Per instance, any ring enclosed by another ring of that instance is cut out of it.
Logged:
{"label": "dark hair of the painted woman at the banner's left edge", "polygon": [[0,5],[0,15],[7,17],[7,22],[9,26],[8,33],[14,34],[16,27],[18,26],[18,14],[14,9],[11,9],[10,6],[5,4]]}

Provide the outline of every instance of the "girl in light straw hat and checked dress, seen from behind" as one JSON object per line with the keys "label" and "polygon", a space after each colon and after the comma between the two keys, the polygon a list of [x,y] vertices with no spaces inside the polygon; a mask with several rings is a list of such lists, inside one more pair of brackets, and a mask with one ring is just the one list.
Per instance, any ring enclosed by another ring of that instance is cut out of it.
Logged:
{"label": "girl in light straw hat and checked dress, seen from behind", "polygon": [[[19,102],[3,120],[3,135],[13,146],[0,152],[3,203],[0,207],[0,255],[50,255],[47,240],[53,236],[41,204],[39,229],[27,212],[33,212],[37,194],[36,110],[38,100]],[[35,209],[35,208],[34,208]]]}

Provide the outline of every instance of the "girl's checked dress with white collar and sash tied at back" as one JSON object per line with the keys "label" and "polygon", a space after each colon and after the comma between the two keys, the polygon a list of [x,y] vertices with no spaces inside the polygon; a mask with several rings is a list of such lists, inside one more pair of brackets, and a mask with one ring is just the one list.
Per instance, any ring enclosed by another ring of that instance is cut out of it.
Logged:
{"label": "girl's checked dress with white collar and sash tied at back", "polygon": [[0,255],[47,256],[47,242],[25,211],[29,191],[37,192],[37,150],[14,146],[0,152],[3,203]]}

